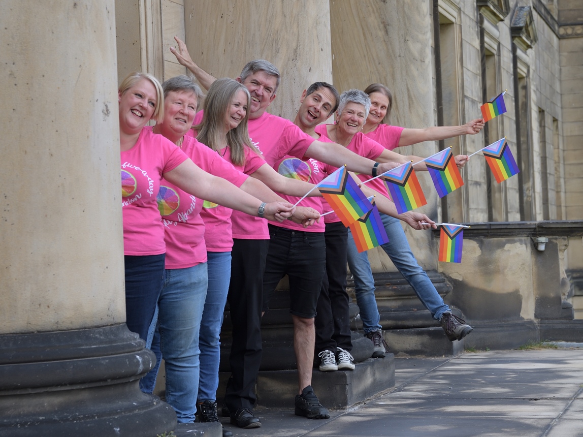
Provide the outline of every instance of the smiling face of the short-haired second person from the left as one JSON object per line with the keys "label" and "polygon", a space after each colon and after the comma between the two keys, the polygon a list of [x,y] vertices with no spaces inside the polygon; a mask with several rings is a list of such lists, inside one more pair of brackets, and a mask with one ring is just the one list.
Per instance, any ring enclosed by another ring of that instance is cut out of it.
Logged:
{"label": "smiling face of the short-haired second person from the left", "polygon": [[[196,95],[192,91],[170,91],[168,93],[164,98],[164,121],[160,125],[160,131],[164,137],[181,138],[188,132],[196,115],[197,103]],[[173,138],[170,139],[175,141]]]}

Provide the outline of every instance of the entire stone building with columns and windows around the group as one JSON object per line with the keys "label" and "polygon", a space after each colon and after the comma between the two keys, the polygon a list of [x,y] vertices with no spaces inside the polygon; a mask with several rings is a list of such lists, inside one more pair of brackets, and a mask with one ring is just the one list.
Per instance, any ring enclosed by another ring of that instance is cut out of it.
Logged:
{"label": "entire stone building with columns and windows around the group", "polygon": [[[252,58],[272,61],[282,86],[270,111],[286,118],[314,81],[341,91],[385,83],[394,92],[391,123],[404,127],[465,123],[507,90],[507,113],[482,134],[403,149],[472,153],[507,138],[521,172],[502,184],[480,155],[463,169],[465,185],[443,200],[420,175],[423,212],[472,225],[462,263],[437,262],[436,233],[406,232],[446,301],[476,328],[466,345],[581,338],[583,324],[573,320],[583,318],[580,0],[2,6],[0,348],[9,354],[0,357],[0,426],[10,435],[27,435],[22,424],[44,426],[45,435],[83,433],[87,423],[106,429],[111,417],[124,435],[173,426],[167,405],[138,389],[153,356],[124,331],[121,208],[108,193],[117,193],[119,177],[116,82],[131,71],[184,73],[168,51],[175,35],[217,77],[236,78]],[[416,315],[423,308],[384,253],[373,250],[370,260],[394,350],[398,335],[389,331],[438,330]]]}

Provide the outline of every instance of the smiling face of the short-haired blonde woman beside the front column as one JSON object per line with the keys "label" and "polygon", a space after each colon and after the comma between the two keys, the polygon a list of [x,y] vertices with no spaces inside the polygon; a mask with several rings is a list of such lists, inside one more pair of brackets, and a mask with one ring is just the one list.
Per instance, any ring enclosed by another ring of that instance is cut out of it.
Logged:
{"label": "smiling face of the short-haired blonde woman beside the front column", "polygon": [[156,88],[147,79],[141,79],[120,97],[120,130],[125,134],[140,132],[154,114]]}

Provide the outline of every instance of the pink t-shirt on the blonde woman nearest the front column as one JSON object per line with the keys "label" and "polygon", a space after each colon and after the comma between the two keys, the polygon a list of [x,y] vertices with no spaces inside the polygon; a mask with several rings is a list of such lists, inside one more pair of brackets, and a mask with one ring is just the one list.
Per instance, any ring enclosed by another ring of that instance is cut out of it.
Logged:
{"label": "pink t-shirt on the blonde woman nearest the front column", "polygon": [[162,135],[143,129],[138,141],[121,152],[121,197],[124,254],[160,255],[166,252],[164,226],[156,197],[162,174],[188,159]]}

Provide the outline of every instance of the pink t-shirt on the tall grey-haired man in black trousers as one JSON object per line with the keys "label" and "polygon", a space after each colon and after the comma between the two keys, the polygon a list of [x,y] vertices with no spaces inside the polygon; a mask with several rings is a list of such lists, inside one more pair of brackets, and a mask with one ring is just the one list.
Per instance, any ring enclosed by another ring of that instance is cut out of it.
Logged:
{"label": "pink t-shirt on the tall grey-haired man in black trousers", "polygon": [[[265,161],[271,166],[286,155],[304,158],[308,147],[315,141],[291,121],[268,113],[249,120],[248,128],[252,144],[261,151]],[[266,221],[261,222],[261,219],[239,211],[233,211],[232,219],[233,238],[269,239]]]}

